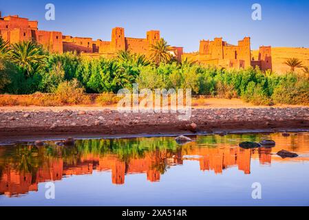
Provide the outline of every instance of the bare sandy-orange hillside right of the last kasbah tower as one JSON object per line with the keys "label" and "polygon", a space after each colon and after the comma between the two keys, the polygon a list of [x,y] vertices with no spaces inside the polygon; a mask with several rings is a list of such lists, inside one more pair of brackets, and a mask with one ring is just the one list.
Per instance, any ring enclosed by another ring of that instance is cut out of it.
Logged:
{"label": "bare sandy-orange hillside right of the last kasbah tower", "polygon": [[[254,50],[252,52],[253,57],[257,60],[259,51]],[[285,73],[290,70],[290,67],[284,64],[288,58],[299,58],[303,62],[303,65],[309,67],[309,48],[301,47],[273,47],[273,70],[277,73]],[[302,69],[296,69],[296,72],[302,73]]]}

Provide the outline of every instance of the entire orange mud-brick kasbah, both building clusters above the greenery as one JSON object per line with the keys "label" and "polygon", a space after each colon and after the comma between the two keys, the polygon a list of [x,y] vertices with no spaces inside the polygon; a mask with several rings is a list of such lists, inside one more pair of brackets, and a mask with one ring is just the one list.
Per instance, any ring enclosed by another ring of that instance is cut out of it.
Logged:
{"label": "entire orange mud-brick kasbah, both building clusters above the greenery", "polygon": [[[36,41],[49,52],[74,52],[85,56],[105,56],[112,58],[118,50],[130,50],[137,54],[149,55],[150,46],[160,40],[160,31],[150,30],[146,39],[125,36],[124,28],[111,31],[111,41],[93,41],[92,38],[64,36],[61,32],[38,29],[38,21],[30,21],[17,15],[1,17],[0,35],[9,43]],[[200,50],[184,53],[183,47],[172,47],[171,52],[179,62],[184,59],[204,65],[216,65],[223,68],[246,68],[258,66],[262,70],[272,69],[271,47],[259,47],[259,57],[255,61],[251,55],[251,39],[245,37],[238,45],[231,45],[216,38],[214,41],[200,41]]]}

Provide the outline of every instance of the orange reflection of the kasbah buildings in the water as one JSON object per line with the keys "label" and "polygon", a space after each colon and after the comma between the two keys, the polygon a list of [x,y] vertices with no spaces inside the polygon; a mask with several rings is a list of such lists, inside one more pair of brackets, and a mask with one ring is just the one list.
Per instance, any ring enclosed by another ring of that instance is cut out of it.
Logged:
{"label": "orange reflection of the kasbah buildings in the water", "polygon": [[[78,159],[66,161],[62,157],[46,157],[43,164],[31,172],[19,172],[14,166],[6,164],[1,168],[0,194],[8,197],[37,191],[38,184],[44,181],[58,181],[70,175],[89,175],[97,170],[110,172],[113,184],[125,184],[125,175],[145,173],[147,180],[160,181],[168,166],[183,164],[184,160],[197,161],[200,170],[220,174],[226,168],[237,167],[244,174],[251,173],[251,159],[260,164],[271,164],[272,152],[279,148],[257,148],[254,150],[235,147],[233,144],[218,144],[216,148],[207,148],[187,144],[181,148],[156,149],[145,151],[142,156],[120,159],[113,153],[96,155],[82,153]],[[273,157],[274,158],[274,157]],[[276,157],[276,159],[279,159]]]}

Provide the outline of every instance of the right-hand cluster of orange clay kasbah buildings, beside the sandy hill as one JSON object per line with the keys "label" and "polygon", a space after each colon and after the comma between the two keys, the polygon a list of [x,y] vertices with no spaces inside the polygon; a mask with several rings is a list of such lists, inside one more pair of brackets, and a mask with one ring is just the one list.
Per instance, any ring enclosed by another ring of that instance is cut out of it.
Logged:
{"label": "right-hand cluster of orange clay kasbah buildings, beside the sandy hill", "polygon": [[222,38],[214,41],[200,41],[200,50],[197,53],[187,53],[182,56],[188,61],[195,61],[204,65],[217,65],[228,68],[246,68],[259,66],[262,70],[272,69],[271,47],[259,47],[259,58],[251,58],[251,39],[245,37],[238,41],[238,45],[231,45]]}

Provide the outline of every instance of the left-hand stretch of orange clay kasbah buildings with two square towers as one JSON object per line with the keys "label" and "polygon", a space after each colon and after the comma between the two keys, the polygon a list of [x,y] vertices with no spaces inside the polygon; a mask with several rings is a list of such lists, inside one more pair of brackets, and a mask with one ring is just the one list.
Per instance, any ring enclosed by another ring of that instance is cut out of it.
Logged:
{"label": "left-hand stretch of orange clay kasbah buildings with two square towers", "polygon": [[[63,36],[61,32],[48,32],[38,30],[37,21],[20,18],[17,15],[1,17],[0,35],[9,43],[22,41],[36,41],[50,52],[74,52],[84,53],[89,56],[113,57],[118,50],[130,50],[138,54],[149,55],[150,45],[160,40],[160,31],[147,32],[145,39],[129,38],[125,36],[124,28],[114,28],[111,32],[111,41],[94,41],[92,38]],[[182,47],[173,47],[172,54],[181,61]]]}

